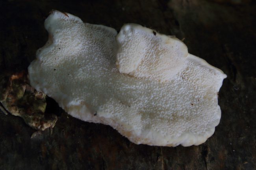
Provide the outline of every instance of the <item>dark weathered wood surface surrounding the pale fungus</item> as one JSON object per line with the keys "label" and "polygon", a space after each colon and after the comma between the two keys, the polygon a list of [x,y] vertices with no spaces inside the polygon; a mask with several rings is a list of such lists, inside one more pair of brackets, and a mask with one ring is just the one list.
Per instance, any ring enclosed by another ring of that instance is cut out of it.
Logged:
{"label": "dark weathered wood surface surrounding the pale fungus", "polygon": [[250,0],[95,0],[0,2],[0,71],[25,70],[47,40],[51,9],[119,30],[137,23],[176,35],[189,52],[228,75],[219,92],[222,118],[206,143],[191,147],[136,145],[109,126],[48,112],[56,126],[35,130],[0,113],[1,170],[255,170],[256,3]]}

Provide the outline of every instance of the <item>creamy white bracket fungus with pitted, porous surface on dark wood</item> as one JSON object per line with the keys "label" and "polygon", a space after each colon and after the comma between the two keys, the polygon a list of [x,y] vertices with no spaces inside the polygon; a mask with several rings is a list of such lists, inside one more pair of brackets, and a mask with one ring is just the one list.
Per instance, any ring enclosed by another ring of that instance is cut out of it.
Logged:
{"label": "creamy white bracket fungus with pitted, porous surface on dark wood", "polygon": [[115,29],[53,11],[30,83],[83,121],[108,124],[136,144],[204,143],[219,124],[226,75],[177,38],[137,24]]}

